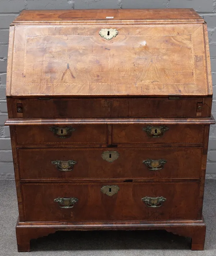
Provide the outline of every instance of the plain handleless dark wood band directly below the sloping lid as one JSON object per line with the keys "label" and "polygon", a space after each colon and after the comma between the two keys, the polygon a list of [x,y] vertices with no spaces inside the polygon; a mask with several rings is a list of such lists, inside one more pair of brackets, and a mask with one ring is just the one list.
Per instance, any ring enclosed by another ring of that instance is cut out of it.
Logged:
{"label": "plain handleless dark wood band directly below the sloping lid", "polygon": [[[14,102],[14,117],[17,117],[16,99],[14,99],[13,102]],[[23,99],[22,100],[22,117],[23,118],[118,118],[118,117],[121,117],[121,118],[144,118],[144,117],[177,118],[177,117],[210,116],[211,107],[208,106],[208,104],[202,104],[200,102],[202,102],[202,99],[199,99],[199,98],[197,99],[193,99],[193,98],[192,99],[190,98],[180,98],[180,99],[168,99],[168,98]],[[198,106],[202,106],[201,110],[197,110]]]}

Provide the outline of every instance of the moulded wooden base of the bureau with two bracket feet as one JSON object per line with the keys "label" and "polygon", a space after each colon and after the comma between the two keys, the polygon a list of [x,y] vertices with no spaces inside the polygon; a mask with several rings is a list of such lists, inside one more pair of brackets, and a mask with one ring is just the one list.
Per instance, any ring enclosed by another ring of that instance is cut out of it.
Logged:
{"label": "moulded wooden base of the bureau with two bracket feet", "polygon": [[85,230],[166,230],[192,239],[192,250],[203,250],[206,224],[198,221],[134,221],[134,222],[19,222],[16,226],[18,252],[30,251],[30,240],[56,231]]}

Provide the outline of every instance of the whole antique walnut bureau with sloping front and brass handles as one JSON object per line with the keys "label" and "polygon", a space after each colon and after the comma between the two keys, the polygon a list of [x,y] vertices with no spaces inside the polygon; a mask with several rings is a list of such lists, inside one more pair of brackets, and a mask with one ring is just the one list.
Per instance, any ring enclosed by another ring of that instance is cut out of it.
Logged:
{"label": "whole antique walnut bureau with sloping front and brass handles", "polygon": [[18,251],[58,230],[150,229],[203,250],[215,120],[193,9],[24,10],[6,95]]}

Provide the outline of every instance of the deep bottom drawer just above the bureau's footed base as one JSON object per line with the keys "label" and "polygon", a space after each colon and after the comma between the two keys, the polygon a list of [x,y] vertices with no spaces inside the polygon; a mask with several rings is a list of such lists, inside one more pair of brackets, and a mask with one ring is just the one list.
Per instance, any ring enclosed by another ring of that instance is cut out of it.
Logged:
{"label": "deep bottom drawer just above the bureau's footed base", "polygon": [[23,183],[21,188],[24,221],[197,219],[199,182]]}

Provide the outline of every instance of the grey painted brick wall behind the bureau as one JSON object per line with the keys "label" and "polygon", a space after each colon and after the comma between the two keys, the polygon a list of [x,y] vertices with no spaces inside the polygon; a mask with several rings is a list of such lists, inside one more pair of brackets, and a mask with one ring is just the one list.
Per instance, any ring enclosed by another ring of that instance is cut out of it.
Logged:
{"label": "grey painted brick wall behind the bureau", "polygon": [[[216,118],[216,0],[0,0],[0,176],[13,173],[5,84],[9,25],[23,9],[194,8],[208,24]],[[211,126],[207,173],[216,178],[216,125]],[[211,175],[212,174],[212,175]],[[214,175],[215,174],[215,175]]]}

